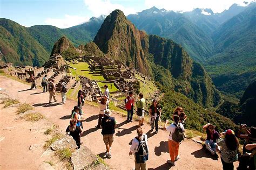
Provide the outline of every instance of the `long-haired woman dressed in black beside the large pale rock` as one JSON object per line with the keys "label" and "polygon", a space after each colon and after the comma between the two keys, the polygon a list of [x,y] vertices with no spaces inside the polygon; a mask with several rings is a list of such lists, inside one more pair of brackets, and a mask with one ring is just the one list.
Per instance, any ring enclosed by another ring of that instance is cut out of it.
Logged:
{"label": "long-haired woman dressed in black beside the large pale rock", "polygon": [[66,133],[69,133],[69,135],[73,137],[73,139],[76,141],[78,148],[80,148],[80,145],[83,144],[80,140],[80,134],[82,133],[82,130],[79,126],[77,126],[76,119],[71,119],[69,123],[70,125],[68,126],[68,128],[66,128]]}

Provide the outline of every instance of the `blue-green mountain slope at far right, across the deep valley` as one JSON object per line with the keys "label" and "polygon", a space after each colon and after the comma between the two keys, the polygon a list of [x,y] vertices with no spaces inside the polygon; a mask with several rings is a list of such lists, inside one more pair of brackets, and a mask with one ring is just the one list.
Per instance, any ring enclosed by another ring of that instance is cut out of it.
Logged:
{"label": "blue-green mountain slope at far right, across the deep valley", "polygon": [[[214,54],[205,67],[220,90],[242,94],[256,75],[256,5],[224,23],[213,34]],[[239,75],[239,76],[237,76]],[[224,80],[223,77],[227,79]],[[238,88],[228,84],[238,83]]]}

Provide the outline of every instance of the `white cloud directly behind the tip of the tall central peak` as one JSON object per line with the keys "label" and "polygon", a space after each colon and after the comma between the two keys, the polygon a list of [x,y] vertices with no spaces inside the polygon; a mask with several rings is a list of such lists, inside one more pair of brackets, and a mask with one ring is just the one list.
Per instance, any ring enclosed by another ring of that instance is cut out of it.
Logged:
{"label": "white cloud directly behind the tip of the tall central peak", "polygon": [[133,8],[125,8],[123,5],[113,4],[110,0],[84,0],[84,3],[87,9],[89,9],[95,17],[100,15],[109,15],[116,9],[122,10],[125,15],[136,13]]}

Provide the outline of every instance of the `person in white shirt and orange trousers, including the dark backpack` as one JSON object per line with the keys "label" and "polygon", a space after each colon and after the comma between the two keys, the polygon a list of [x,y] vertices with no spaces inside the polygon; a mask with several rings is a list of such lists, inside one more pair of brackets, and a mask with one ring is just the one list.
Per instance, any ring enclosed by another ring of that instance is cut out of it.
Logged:
{"label": "person in white shirt and orange trousers, including the dark backpack", "polygon": [[184,132],[185,129],[183,127],[183,124],[179,123],[179,116],[174,115],[173,121],[170,126],[167,126],[167,123],[169,123],[168,120],[165,121],[164,124],[164,130],[167,130],[169,133],[169,140],[168,140],[168,146],[169,146],[169,153],[171,160],[167,160],[167,163],[169,163],[171,166],[175,166],[174,161],[177,161],[179,156],[179,145],[180,142],[184,139]]}

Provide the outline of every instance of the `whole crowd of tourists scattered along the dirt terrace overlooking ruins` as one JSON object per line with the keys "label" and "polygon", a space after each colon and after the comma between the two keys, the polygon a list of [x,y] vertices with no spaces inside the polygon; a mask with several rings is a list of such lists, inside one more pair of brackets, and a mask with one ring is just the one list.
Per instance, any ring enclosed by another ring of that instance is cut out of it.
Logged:
{"label": "whole crowd of tourists scattered along the dirt terrace overlooking ruins", "polygon": [[[35,77],[31,75],[31,89],[36,88]],[[60,80],[60,93],[62,94],[62,104],[66,102],[66,84],[63,80]],[[56,98],[56,84],[55,79],[47,79],[47,75],[42,80],[43,92],[49,91],[49,103],[57,102]],[[97,101],[99,103],[99,114],[98,114],[98,124],[96,128],[102,129],[103,141],[106,146],[106,158],[111,158],[111,146],[114,141],[115,128],[117,127],[117,122],[114,117],[111,117],[111,110],[109,108],[109,103],[111,101],[110,91],[108,86],[104,86],[104,95],[99,96]],[[77,148],[83,143],[80,141],[80,136],[83,133],[83,122],[85,119],[82,117],[85,97],[82,94],[82,90],[78,91],[78,101],[77,105],[71,111],[70,125],[66,128],[66,133],[73,137],[76,141]],[[136,103],[136,109],[135,109]],[[147,143],[147,135],[143,132],[141,126],[144,125],[144,115],[146,109],[146,100],[142,93],[138,95],[138,99],[135,100],[133,97],[133,92],[130,91],[129,95],[124,100],[125,108],[127,110],[127,122],[132,122],[133,111],[136,110],[136,115],[138,116],[137,125],[137,136],[133,138],[130,147],[130,158],[134,157],[135,168],[134,169],[146,169],[146,162],[149,160],[149,145]],[[161,121],[162,109],[157,100],[153,100],[149,109],[149,117],[151,124],[151,131],[156,129],[155,133],[158,133],[159,126],[158,123]],[[167,126],[168,120],[165,121],[163,130],[169,132],[168,146],[170,153],[170,160],[167,160],[170,166],[175,166],[175,162],[180,159],[179,156],[179,146],[184,140],[185,129],[184,125],[186,123],[187,116],[181,107],[177,107],[173,112],[173,123]],[[224,132],[218,133],[215,130],[215,126],[211,123],[207,123],[203,126],[206,131],[207,137],[205,141],[205,147],[209,154],[213,157],[218,158],[218,152],[220,153],[220,159],[223,164],[223,169],[234,169],[233,162],[239,159],[239,166],[237,169],[255,169],[255,155],[256,155],[256,128],[251,127],[247,129],[245,124],[241,125],[238,131],[238,137],[240,139],[245,139],[244,148],[242,154],[239,155],[239,140],[235,136],[233,130],[228,129]],[[132,156],[133,155],[133,156]]]}

